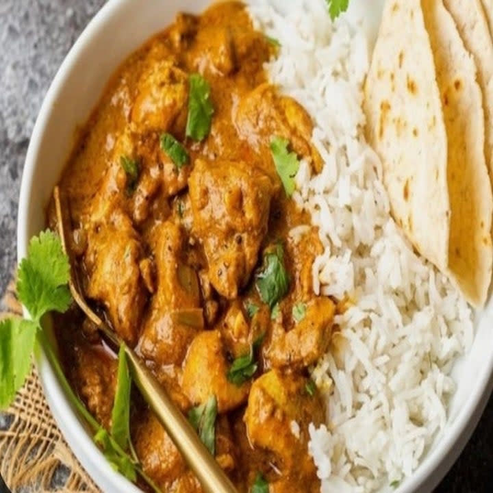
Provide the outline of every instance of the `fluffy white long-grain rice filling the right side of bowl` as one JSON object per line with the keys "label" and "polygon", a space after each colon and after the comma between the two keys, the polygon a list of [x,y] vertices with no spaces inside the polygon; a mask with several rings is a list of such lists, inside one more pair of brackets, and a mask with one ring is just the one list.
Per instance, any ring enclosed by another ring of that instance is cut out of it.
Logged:
{"label": "fluffy white long-grain rice filling the right side of bowl", "polygon": [[324,0],[251,0],[250,12],[281,43],[270,80],[312,115],[325,161],[318,176],[301,164],[294,193],[325,246],[314,289],[355,303],[336,320],[340,350],[313,369],[328,416],[326,427],[310,427],[309,452],[323,493],[372,492],[411,475],[443,429],[472,313],[390,217],[381,163],[362,132],[363,30],[344,16],[332,23]]}

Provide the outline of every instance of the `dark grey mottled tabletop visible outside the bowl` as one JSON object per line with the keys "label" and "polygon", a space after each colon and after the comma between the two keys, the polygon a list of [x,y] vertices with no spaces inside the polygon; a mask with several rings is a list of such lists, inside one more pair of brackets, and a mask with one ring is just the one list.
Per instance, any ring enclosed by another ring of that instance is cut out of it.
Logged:
{"label": "dark grey mottled tabletop visible outside the bowl", "polygon": [[[0,0],[0,294],[16,260],[18,190],[36,114],[64,56],[103,3]],[[0,481],[0,493],[4,488]],[[437,489],[487,492],[493,492],[493,399],[459,462]]]}

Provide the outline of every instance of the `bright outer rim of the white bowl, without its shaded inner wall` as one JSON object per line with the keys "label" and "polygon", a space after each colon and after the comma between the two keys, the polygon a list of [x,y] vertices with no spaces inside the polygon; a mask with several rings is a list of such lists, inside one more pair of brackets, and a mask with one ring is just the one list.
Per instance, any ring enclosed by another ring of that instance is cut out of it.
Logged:
{"label": "bright outer rim of the white bowl, without its shaded inner wall", "polygon": [[[125,1],[129,0],[108,0],[103,5],[103,8],[91,19],[64,58],[43,100],[29,142],[21,180],[17,220],[18,262],[27,254],[27,247],[30,240],[28,234],[28,211],[31,190],[35,187],[33,180],[34,170],[38,166],[40,144],[44,138],[45,127],[51,117],[53,105],[66,84],[68,74],[73,71],[77,60],[86,49],[88,42],[104,28],[108,19],[114,15]],[[42,206],[45,207],[45,204]],[[490,303],[493,303],[493,300],[490,299]],[[23,310],[25,316],[28,316],[24,308]],[[130,493],[141,492],[140,488],[130,483],[111,468],[103,453],[94,444],[86,431],[86,427],[84,427],[77,416],[75,409],[68,403],[45,352],[38,344],[34,352],[34,360],[51,413],[71,451],[73,451],[81,465],[89,473],[92,480],[103,490],[116,488],[118,491]],[[457,413],[453,422],[448,421],[449,428],[446,429],[445,433],[439,435],[438,443],[435,444],[433,450],[428,451],[422,458],[413,475],[404,479],[399,488],[392,491],[396,491],[397,493],[430,492],[440,483],[446,472],[448,472],[457,457],[462,453],[464,446],[466,446],[470,435],[472,435],[488,404],[490,394],[493,390],[493,351],[490,353],[489,361],[487,360],[485,363],[485,368],[478,375],[475,386],[468,395],[465,405]]]}

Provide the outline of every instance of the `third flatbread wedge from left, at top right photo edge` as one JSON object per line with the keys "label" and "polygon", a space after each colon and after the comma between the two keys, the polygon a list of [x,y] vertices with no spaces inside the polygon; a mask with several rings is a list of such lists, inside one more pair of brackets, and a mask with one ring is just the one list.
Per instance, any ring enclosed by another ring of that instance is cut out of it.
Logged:
{"label": "third flatbread wedge from left, at top right photo edge", "polygon": [[481,0],[444,0],[444,5],[475,60],[477,81],[483,93],[486,165],[493,184],[493,38]]}

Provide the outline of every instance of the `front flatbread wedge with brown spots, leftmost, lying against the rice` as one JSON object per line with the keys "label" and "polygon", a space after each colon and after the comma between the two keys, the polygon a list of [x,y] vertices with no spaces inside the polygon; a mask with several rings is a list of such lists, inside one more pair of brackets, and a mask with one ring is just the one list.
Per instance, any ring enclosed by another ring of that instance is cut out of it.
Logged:
{"label": "front flatbread wedge with brown spots, leftmost, lying against the rice", "polygon": [[451,212],[447,138],[420,0],[385,3],[364,112],[396,223],[421,255],[445,271]]}

